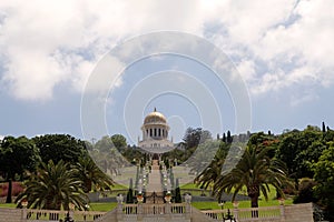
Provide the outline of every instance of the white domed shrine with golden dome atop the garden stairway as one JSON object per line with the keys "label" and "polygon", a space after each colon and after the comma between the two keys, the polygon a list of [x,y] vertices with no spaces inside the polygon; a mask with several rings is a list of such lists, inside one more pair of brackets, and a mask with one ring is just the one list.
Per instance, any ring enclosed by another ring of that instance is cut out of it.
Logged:
{"label": "white domed shrine with golden dome atop the garden stairway", "polygon": [[168,140],[169,129],[165,115],[155,109],[144,119],[143,140],[138,141],[138,147],[153,154],[173,150],[173,139]]}

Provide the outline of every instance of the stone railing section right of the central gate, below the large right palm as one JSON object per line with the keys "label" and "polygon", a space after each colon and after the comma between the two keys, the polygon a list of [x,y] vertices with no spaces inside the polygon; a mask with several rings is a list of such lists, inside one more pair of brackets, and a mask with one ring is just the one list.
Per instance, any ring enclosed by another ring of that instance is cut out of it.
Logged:
{"label": "stone railing section right of the central gate, below the large right palm", "polygon": [[279,221],[284,219],[284,205],[249,208],[233,210],[207,210],[200,211],[215,221],[224,221],[226,218],[233,218],[235,221]]}

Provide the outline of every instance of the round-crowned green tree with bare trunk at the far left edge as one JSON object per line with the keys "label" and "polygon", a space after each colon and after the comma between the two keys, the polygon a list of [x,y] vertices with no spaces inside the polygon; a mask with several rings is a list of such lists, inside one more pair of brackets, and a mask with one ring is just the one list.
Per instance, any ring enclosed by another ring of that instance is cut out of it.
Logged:
{"label": "round-crowned green tree with bare trunk at the far left edge", "polygon": [[24,170],[35,170],[39,162],[38,149],[26,137],[6,137],[0,147],[0,171],[9,182],[6,202],[11,203],[12,180],[17,174],[22,175]]}

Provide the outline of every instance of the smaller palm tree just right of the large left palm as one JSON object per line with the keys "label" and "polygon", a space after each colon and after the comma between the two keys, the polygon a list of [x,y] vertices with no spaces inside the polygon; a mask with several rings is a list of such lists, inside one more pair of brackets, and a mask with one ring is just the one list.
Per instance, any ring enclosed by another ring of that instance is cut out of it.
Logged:
{"label": "smaller palm tree just right of the large left palm", "polygon": [[92,185],[95,190],[109,188],[114,181],[105,174],[87,154],[82,153],[79,157],[79,162],[76,164],[78,169],[78,178],[84,182],[84,191],[86,193],[91,191]]}

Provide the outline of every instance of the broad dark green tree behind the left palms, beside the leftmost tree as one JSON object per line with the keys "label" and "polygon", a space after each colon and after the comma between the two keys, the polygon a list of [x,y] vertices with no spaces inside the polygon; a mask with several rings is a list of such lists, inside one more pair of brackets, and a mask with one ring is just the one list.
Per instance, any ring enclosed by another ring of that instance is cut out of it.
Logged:
{"label": "broad dark green tree behind the left palms, beside the leftmost tree", "polygon": [[39,148],[40,157],[45,163],[48,163],[49,160],[55,163],[63,160],[73,164],[78,162],[81,152],[86,150],[84,141],[69,134],[46,134],[32,140]]}

